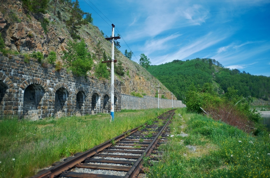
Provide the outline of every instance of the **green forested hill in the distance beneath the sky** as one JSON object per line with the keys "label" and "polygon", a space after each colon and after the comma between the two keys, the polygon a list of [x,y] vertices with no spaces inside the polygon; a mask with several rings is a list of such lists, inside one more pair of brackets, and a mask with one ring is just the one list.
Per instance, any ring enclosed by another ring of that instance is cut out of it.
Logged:
{"label": "green forested hill in the distance beneath the sky", "polygon": [[224,68],[215,59],[174,60],[166,64],[152,65],[148,71],[181,100],[185,99],[187,91],[202,88],[205,83],[210,83],[210,87],[220,95],[226,93],[229,87],[237,89],[237,94],[243,97],[268,100],[270,94],[270,77]]}

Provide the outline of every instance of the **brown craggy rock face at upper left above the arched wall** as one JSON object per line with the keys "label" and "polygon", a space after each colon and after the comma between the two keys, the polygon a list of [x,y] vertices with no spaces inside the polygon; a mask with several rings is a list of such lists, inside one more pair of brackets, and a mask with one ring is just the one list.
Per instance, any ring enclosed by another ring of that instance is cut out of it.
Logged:
{"label": "brown craggy rock face at upper left above the arched wall", "polygon": [[[7,48],[19,53],[40,51],[44,55],[52,50],[58,53],[65,50],[65,39],[70,36],[63,33],[66,29],[57,27],[59,22],[50,14],[25,13],[19,1],[7,0],[0,5],[5,11],[4,14],[0,12],[0,32]],[[45,24],[46,32],[41,24],[45,18],[49,21]]]}

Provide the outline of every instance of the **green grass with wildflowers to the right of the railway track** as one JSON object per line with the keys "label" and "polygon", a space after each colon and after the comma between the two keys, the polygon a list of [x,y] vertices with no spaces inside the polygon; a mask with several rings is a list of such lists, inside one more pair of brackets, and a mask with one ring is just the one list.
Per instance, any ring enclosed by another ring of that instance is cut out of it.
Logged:
{"label": "green grass with wildflowers to the right of the railway track", "polygon": [[174,136],[160,146],[149,178],[270,177],[268,134],[255,137],[185,109],[176,110],[170,128]]}

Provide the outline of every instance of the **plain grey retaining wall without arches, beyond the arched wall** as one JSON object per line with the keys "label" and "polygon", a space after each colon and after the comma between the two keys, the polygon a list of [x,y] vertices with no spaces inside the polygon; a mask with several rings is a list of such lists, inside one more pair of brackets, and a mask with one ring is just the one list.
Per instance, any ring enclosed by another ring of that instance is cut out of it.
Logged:
{"label": "plain grey retaining wall without arches, beyond the arched wall", "polygon": [[[159,108],[171,108],[171,99],[159,99]],[[185,107],[180,100],[173,100],[174,108]],[[143,96],[143,98],[121,94],[121,109],[151,109],[158,108],[158,98]]]}

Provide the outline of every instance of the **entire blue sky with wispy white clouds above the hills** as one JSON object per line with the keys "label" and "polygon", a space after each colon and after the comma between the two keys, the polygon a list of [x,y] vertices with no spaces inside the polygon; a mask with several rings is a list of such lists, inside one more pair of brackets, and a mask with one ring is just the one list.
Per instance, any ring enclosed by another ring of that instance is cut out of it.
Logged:
{"label": "entire blue sky with wispy white clouds above the hills", "polygon": [[79,0],[105,35],[120,33],[152,65],[174,59],[213,58],[224,67],[270,76],[269,0]]}

